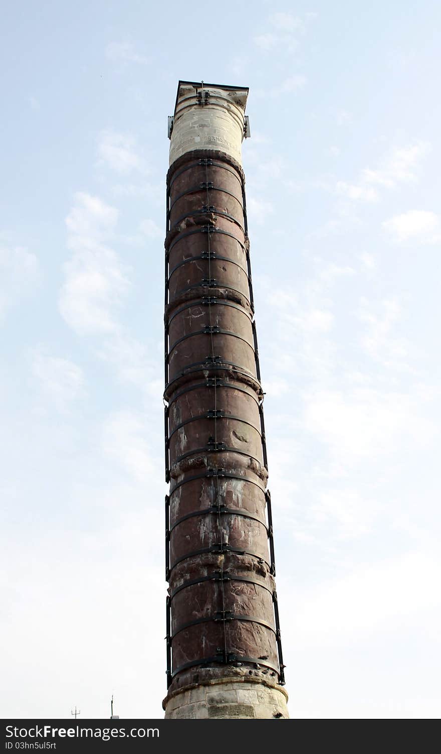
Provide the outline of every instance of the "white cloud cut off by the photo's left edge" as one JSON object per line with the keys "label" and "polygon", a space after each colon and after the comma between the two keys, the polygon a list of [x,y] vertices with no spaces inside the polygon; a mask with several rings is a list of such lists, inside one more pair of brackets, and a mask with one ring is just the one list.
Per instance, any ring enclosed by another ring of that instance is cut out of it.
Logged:
{"label": "white cloud cut off by the photo's left edge", "polygon": [[38,283],[38,260],[23,247],[0,244],[0,320]]}

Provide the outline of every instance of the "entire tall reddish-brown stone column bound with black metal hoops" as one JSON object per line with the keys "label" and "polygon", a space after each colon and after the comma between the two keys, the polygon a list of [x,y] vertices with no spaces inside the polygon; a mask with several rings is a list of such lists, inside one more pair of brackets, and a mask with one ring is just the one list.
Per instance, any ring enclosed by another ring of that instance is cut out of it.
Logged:
{"label": "entire tall reddish-brown stone column bound with black metal hoops", "polygon": [[247,95],[180,81],[169,124],[169,719],[288,716],[241,159]]}

